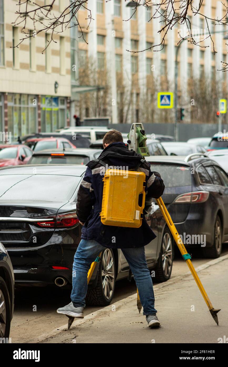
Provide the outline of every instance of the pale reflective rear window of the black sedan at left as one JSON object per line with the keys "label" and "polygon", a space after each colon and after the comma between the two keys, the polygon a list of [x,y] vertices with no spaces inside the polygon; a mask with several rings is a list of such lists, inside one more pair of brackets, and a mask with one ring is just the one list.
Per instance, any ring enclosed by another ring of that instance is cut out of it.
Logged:
{"label": "pale reflective rear window of the black sedan at left", "polygon": [[0,197],[1,200],[33,200],[34,204],[39,200],[69,200],[80,180],[81,177],[64,175],[1,175]]}

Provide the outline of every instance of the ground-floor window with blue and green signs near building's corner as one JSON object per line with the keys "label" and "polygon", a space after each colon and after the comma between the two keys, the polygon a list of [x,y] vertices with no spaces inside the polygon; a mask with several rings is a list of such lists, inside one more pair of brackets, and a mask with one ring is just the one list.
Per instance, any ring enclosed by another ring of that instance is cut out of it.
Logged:
{"label": "ground-floor window with blue and green signs near building's corner", "polygon": [[66,98],[41,96],[41,131],[51,132],[66,126]]}

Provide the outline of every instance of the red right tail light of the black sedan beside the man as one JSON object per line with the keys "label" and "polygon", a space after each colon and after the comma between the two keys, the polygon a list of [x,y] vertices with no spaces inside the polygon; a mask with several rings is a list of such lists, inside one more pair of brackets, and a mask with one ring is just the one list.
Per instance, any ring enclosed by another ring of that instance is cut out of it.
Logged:
{"label": "red right tail light of the black sedan beside the man", "polygon": [[55,215],[51,215],[49,217],[42,218],[42,220],[34,222],[34,224],[46,228],[69,228],[75,226],[78,223],[79,219],[75,212],[58,214],[56,215],[56,218]]}

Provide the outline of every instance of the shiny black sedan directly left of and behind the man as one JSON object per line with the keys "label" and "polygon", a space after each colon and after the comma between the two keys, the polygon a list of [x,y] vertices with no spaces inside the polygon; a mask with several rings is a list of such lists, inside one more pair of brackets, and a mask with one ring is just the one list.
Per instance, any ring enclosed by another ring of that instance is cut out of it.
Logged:
{"label": "shiny black sedan directly left of and behind the man", "polygon": [[[76,199],[85,170],[86,166],[73,164],[0,169],[0,241],[10,254],[16,284],[72,283],[72,263],[81,240]],[[172,271],[173,242],[169,230],[160,226],[161,218],[146,215],[157,237],[145,246],[145,254],[149,269],[156,269],[156,280],[166,281]],[[106,248],[101,257],[86,304],[110,304],[115,281],[128,276],[122,251]],[[108,287],[107,269],[114,273]]]}

